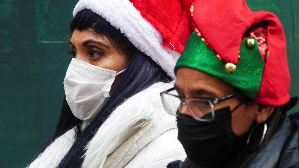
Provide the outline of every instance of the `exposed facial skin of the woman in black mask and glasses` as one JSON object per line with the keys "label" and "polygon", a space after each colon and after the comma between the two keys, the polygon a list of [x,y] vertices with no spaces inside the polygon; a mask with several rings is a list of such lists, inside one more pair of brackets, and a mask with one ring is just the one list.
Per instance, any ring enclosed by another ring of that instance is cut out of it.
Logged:
{"label": "exposed facial skin of the woman in black mask and glasses", "polygon": [[[181,67],[177,70],[176,75],[176,91],[185,98],[220,99],[236,93],[229,84],[196,69]],[[233,110],[240,103],[240,99],[234,97],[215,104],[214,109],[229,106]],[[256,119],[257,111],[259,111],[259,106],[250,102],[243,103],[232,113],[232,128],[236,135],[240,136],[250,129]],[[180,113],[191,115],[186,104]]]}

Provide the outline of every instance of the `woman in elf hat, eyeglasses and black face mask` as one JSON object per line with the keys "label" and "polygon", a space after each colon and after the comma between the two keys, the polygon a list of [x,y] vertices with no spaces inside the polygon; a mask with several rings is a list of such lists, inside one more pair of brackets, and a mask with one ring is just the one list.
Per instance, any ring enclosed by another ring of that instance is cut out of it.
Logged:
{"label": "woman in elf hat, eyeglasses and black face mask", "polygon": [[298,167],[299,112],[286,116],[298,98],[278,18],[239,0],[198,0],[190,11],[195,31],[175,87],[161,93],[187,159],[168,167]]}

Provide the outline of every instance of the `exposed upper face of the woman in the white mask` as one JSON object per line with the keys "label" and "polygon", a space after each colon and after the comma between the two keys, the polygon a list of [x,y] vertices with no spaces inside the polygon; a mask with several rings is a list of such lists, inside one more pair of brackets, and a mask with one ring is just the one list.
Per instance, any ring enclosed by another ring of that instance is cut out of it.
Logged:
{"label": "exposed upper face of the woman in the white mask", "polygon": [[[114,39],[88,29],[75,29],[70,39],[71,54],[74,58],[116,73],[126,69],[129,62],[122,47],[122,44],[116,43]],[[115,90],[121,76],[122,74],[119,74],[115,77],[110,94]]]}

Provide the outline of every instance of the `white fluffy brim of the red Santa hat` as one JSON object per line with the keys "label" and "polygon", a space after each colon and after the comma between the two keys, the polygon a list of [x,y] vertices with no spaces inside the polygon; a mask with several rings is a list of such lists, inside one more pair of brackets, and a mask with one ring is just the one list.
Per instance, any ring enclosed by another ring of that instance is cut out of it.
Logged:
{"label": "white fluffy brim of the red Santa hat", "polygon": [[163,47],[160,32],[141,16],[130,1],[80,0],[74,8],[73,16],[83,9],[90,9],[110,22],[113,27],[120,29],[135,47],[150,56],[169,76],[175,78],[173,70],[180,53]]}

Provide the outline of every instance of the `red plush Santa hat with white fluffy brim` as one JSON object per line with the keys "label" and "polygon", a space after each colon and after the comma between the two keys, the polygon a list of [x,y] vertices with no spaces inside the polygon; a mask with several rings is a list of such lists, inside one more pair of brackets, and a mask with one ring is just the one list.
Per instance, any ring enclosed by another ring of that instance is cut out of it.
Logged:
{"label": "red plush Santa hat with white fluffy brim", "polygon": [[174,66],[190,35],[180,0],[80,0],[73,16],[83,9],[97,13],[148,55],[172,78]]}

